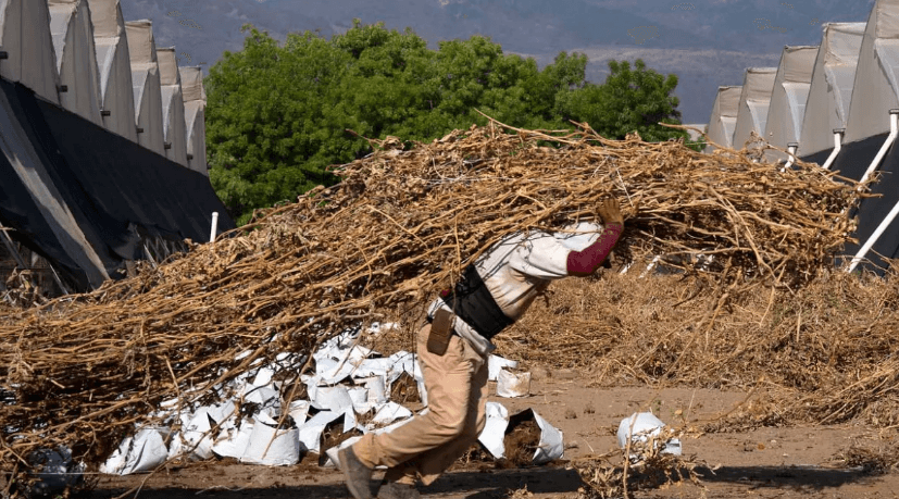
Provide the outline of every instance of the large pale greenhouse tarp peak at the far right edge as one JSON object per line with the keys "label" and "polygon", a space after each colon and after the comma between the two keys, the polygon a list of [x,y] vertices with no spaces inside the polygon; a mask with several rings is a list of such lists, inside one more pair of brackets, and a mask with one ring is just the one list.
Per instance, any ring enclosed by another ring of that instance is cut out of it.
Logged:
{"label": "large pale greenhouse tarp peak at the far right edge", "polygon": [[844,144],[889,132],[889,110],[899,108],[894,77],[899,57],[899,0],[878,0],[871,10],[859,50]]}

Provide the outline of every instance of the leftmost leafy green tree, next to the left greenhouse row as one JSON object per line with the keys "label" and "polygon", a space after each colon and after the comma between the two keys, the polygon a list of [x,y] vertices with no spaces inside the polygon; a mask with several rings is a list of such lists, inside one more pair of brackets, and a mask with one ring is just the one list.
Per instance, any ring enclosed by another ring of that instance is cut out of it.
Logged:
{"label": "leftmost leafy green tree, next to the left greenhouse row", "polygon": [[240,223],[254,208],[333,183],[325,169],[363,149],[334,145],[336,129],[321,126],[346,59],[309,33],[290,35],[282,48],[250,29],[244,50],[226,52],[210,70],[204,80],[210,180]]}

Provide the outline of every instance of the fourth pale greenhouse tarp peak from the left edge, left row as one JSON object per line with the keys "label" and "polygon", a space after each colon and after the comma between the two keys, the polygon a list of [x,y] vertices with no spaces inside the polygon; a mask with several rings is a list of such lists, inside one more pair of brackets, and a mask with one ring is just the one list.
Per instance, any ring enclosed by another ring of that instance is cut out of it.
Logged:
{"label": "fourth pale greenhouse tarp peak from the left edge, left row", "polygon": [[[165,155],[162,130],[162,90],[160,88],[153,24],[150,21],[125,23],[134,85],[137,144]],[[141,132],[142,130],[142,132]]]}

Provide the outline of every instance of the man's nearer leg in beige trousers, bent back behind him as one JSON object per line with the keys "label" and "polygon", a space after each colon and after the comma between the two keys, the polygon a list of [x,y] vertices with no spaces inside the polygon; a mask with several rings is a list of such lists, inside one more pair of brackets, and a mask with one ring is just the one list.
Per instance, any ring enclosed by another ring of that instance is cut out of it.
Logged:
{"label": "man's nearer leg in beige trousers, bent back behind him", "polygon": [[[352,446],[358,459],[369,467],[395,467],[462,435],[467,425],[475,364],[465,340],[453,335],[442,355],[427,351],[426,324],[417,333],[419,362],[427,388],[428,410],[389,433],[366,434]],[[485,367],[486,369],[486,367]],[[486,383],[486,382],[485,382]]]}

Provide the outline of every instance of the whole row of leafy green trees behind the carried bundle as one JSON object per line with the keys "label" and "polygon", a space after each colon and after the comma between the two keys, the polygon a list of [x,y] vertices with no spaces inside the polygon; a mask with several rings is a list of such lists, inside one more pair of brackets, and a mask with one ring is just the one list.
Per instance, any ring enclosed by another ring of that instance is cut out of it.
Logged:
{"label": "whole row of leafy green trees behind the carried bundle", "polygon": [[360,136],[428,141],[484,124],[475,110],[519,127],[558,129],[573,120],[610,138],[686,137],[657,125],[679,123],[676,76],[640,60],[634,70],[611,62],[612,75],[595,85],[584,54],[561,52],[540,70],[480,36],[432,50],[409,28],[359,20],[329,40],[305,32],[278,43],[244,29],[244,49],[225,52],[204,80],[210,179],[238,223],[336,182],[328,166],[371,152]]}

